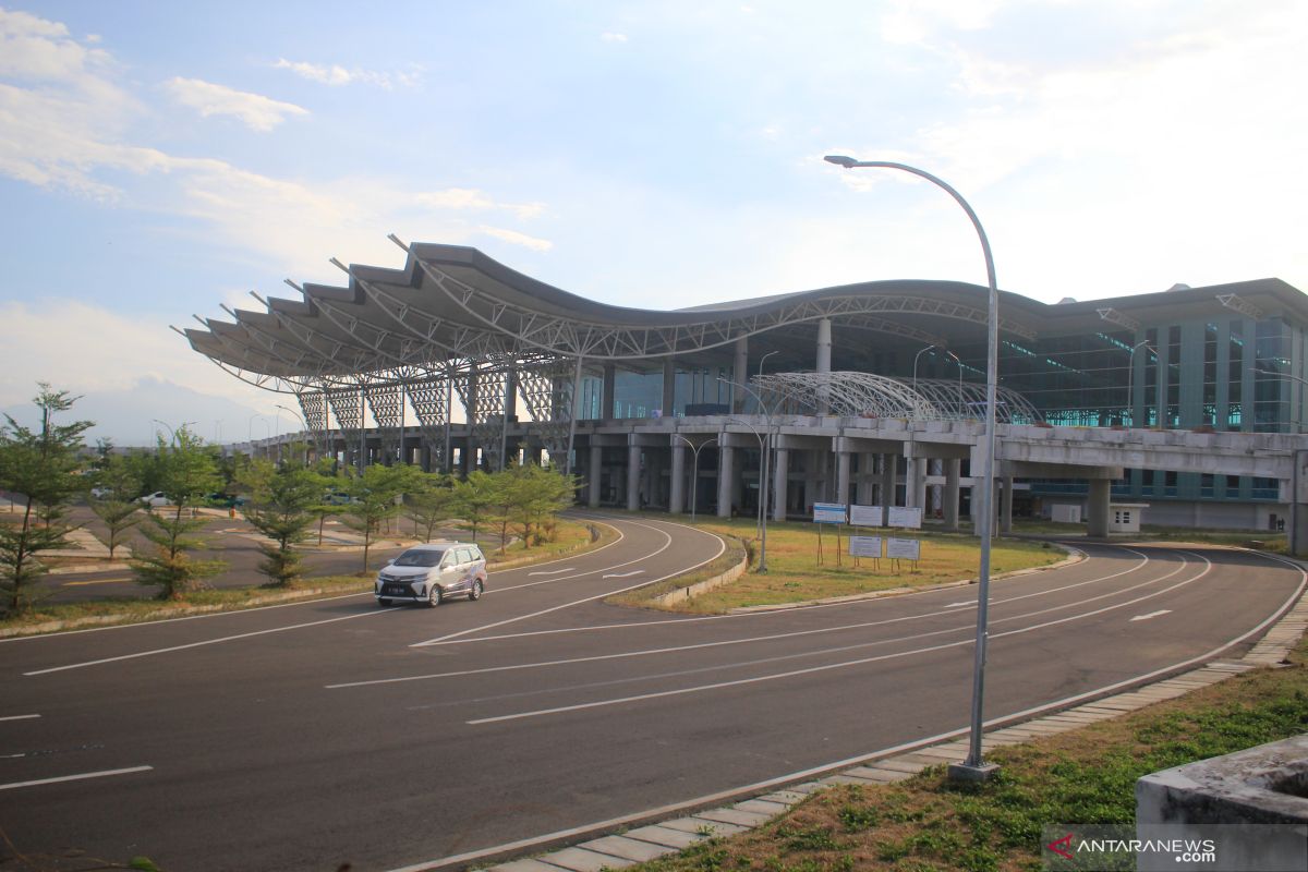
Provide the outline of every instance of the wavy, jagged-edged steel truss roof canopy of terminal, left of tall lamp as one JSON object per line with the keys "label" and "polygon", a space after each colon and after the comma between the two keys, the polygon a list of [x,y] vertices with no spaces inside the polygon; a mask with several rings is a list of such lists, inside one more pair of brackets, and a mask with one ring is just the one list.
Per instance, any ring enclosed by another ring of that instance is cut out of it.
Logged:
{"label": "wavy, jagged-edged steel truss roof canopy of terminal, left of tall lamp", "polygon": [[[395,237],[403,268],[332,260],[345,285],[288,285],[298,299],[251,297],[258,310],[232,320],[196,318],[191,346],[271,390],[303,384],[409,382],[467,367],[653,361],[734,344],[742,337],[837,319],[859,331],[946,344],[943,324],[982,326],[984,289],[950,281],[878,281],[679,311],[610,306],[518,273],[475,248]],[[923,327],[927,324],[927,327]],[[1031,339],[1019,316],[1002,328]]]}

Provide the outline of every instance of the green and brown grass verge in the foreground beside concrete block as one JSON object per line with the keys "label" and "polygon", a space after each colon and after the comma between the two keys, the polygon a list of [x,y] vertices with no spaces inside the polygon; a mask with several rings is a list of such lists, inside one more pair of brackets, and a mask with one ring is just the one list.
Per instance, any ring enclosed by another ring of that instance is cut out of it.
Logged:
{"label": "green and brown grass verge in the foreground beside concrete block", "polygon": [[905,782],[842,786],[731,839],[706,839],[640,872],[1035,872],[1041,826],[1135,821],[1135,779],[1308,731],[1308,645],[1131,715],[988,758],[999,774],[954,786],[943,766]]}

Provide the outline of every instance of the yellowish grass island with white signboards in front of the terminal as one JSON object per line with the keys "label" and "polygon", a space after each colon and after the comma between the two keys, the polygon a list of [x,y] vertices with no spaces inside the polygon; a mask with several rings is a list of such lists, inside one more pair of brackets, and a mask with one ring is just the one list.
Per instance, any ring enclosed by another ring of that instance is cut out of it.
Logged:
{"label": "yellowish grass island with white signboards in front of the terminal", "polygon": [[[676,518],[685,522],[685,518]],[[729,541],[744,540],[751,554],[751,570],[757,565],[759,543],[755,540],[752,519],[700,518],[696,527],[722,536]],[[768,523],[768,573],[748,571],[738,580],[705,592],[687,603],[672,607],[676,611],[717,613],[748,605],[777,605],[804,603],[828,596],[846,596],[897,587],[927,587],[943,582],[976,578],[980,567],[980,543],[967,533],[940,533],[906,531],[904,537],[922,540],[922,560],[914,566],[909,561],[892,563],[889,560],[861,560],[854,566],[849,556],[849,540],[841,536],[841,566],[836,566],[836,536],[823,531],[823,565],[818,565],[818,531],[810,523]],[[888,531],[879,531],[883,537]],[[1048,566],[1066,557],[1062,549],[1045,543],[998,539],[990,550],[991,577],[1019,569]],[[735,563],[729,560],[727,563]],[[725,569],[725,567],[722,567]],[[722,571],[718,569],[718,571]],[[708,577],[705,573],[701,575]],[[679,579],[675,586],[689,582]],[[662,586],[668,587],[668,586]],[[664,592],[647,590],[645,597]]]}

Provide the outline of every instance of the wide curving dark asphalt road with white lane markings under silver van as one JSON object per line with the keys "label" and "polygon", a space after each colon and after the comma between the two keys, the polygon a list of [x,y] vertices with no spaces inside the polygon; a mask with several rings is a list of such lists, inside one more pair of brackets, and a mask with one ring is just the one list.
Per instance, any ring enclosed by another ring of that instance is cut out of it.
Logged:
{"label": "wide curving dark asphalt road with white lane markings under silver van", "polygon": [[[621,541],[497,573],[479,603],[352,596],[0,642],[0,828],[27,855],[169,872],[425,868],[965,726],[974,587],[623,609],[600,599],[721,544],[613,524]],[[1244,552],[1086,550],[994,584],[988,718],[1209,659],[1304,580]]]}

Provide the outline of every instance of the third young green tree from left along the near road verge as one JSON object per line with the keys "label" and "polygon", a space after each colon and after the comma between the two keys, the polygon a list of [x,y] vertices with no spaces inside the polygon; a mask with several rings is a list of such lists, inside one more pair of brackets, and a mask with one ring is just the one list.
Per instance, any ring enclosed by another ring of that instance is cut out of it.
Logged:
{"label": "third young green tree from left along the near road verge", "polygon": [[300,578],[300,552],[293,546],[310,536],[323,481],[309,469],[275,467],[268,460],[255,460],[239,481],[250,489],[246,520],[272,540],[259,546],[264,556],[259,571],[271,586],[289,587]]}

